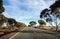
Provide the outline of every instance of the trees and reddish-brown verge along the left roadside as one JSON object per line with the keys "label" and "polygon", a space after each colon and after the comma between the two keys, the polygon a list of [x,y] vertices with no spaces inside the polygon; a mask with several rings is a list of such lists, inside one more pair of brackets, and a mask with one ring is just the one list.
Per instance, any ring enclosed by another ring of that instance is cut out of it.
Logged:
{"label": "trees and reddish-brown verge along the left roadside", "polygon": [[13,31],[22,30],[24,27],[26,27],[25,23],[21,23],[16,21],[14,18],[7,18],[4,16],[4,11],[5,8],[3,7],[3,0],[0,0],[0,37],[13,33]]}

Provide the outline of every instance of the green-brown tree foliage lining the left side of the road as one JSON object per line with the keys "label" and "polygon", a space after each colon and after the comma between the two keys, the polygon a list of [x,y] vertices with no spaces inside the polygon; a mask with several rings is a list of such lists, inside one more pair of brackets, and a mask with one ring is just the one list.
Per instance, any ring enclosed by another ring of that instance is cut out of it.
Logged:
{"label": "green-brown tree foliage lining the left side of the road", "polygon": [[[25,27],[26,25],[24,23],[17,22],[13,18],[7,18],[5,17],[2,13],[5,11],[5,8],[3,7],[3,0],[0,0],[0,26],[4,23],[7,22],[7,26],[17,26],[17,27]],[[5,27],[4,27],[5,29]]]}

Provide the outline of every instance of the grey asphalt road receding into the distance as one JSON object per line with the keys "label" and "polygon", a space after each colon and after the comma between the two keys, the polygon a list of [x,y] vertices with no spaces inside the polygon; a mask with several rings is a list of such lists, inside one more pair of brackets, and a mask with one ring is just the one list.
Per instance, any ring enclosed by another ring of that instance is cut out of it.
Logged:
{"label": "grey asphalt road receding into the distance", "polygon": [[60,39],[60,34],[45,30],[26,27],[10,39]]}

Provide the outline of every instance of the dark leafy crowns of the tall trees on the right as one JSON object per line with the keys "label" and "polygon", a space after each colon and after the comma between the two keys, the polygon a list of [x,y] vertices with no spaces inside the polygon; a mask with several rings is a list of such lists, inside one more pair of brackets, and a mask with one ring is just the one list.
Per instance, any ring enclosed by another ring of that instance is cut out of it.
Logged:
{"label": "dark leafy crowns of the tall trees on the right", "polygon": [[58,29],[57,26],[57,18],[60,18],[60,0],[57,0],[55,3],[53,3],[50,7],[50,9],[44,9],[42,10],[41,14],[40,14],[40,18],[45,17],[46,22],[52,23],[53,21],[53,17],[55,18],[56,21],[56,30]]}

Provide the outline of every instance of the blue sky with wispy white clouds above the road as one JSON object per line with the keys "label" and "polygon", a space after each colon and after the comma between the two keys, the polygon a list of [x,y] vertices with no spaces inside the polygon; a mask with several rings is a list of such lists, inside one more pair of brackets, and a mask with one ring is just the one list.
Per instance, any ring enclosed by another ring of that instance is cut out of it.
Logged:
{"label": "blue sky with wispy white clouds above the road", "polygon": [[40,12],[54,2],[55,0],[3,0],[3,14],[28,25],[30,21],[38,22]]}

